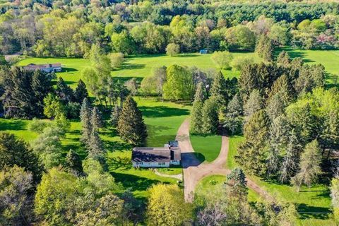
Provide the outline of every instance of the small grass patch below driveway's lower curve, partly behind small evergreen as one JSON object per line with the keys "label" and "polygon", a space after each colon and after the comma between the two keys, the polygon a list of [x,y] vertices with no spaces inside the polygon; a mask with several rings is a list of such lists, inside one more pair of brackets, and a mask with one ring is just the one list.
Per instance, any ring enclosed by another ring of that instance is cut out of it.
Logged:
{"label": "small grass patch below driveway's lower curve, partly behind small evergreen", "polygon": [[[204,177],[196,186],[196,191],[201,194],[208,194],[208,192],[213,191],[215,186],[223,184],[226,182],[226,177],[224,175],[210,175]],[[258,194],[252,189],[249,189],[249,194],[247,196],[250,202],[258,200]]]}

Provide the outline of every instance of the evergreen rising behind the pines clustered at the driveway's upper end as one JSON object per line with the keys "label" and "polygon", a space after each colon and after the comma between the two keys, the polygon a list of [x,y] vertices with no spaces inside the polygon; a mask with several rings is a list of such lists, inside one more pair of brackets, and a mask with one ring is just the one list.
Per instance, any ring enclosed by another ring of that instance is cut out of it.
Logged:
{"label": "evergreen rising behind the pines clustered at the driveway's upper end", "polygon": [[221,72],[215,75],[212,87],[210,88],[210,97],[213,97],[218,107],[226,107],[228,101],[226,80]]}

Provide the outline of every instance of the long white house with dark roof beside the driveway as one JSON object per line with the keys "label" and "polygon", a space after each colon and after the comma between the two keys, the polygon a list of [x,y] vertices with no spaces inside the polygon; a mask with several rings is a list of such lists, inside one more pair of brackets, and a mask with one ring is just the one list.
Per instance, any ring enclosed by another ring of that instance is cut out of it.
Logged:
{"label": "long white house with dark roof beside the driveway", "polygon": [[160,148],[133,148],[133,167],[169,167],[182,160],[178,141],[169,141]]}

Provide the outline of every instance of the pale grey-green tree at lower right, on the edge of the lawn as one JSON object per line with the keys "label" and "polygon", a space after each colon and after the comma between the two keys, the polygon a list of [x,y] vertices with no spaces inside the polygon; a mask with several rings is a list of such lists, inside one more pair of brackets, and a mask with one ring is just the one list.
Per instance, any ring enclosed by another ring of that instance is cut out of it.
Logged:
{"label": "pale grey-green tree at lower right, on the edge of the lawn", "polygon": [[321,150],[318,141],[314,140],[305,146],[300,158],[299,172],[292,178],[292,184],[297,186],[299,192],[302,184],[311,186],[321,174]]}

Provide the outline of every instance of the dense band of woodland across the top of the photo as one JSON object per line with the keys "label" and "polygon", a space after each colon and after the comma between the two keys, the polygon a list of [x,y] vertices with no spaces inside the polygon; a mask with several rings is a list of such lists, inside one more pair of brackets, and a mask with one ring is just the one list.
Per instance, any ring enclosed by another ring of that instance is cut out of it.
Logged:
{"label": "dense band of woodland across the top of the photo", "polygon": [[203,48],[248,51],[261,35],[277,45],[338,48],[338,4],[334,2],[32,1],[8,2],[0,8],[2,54],[88,58],[93,44],[105,53],[123,54]]}

